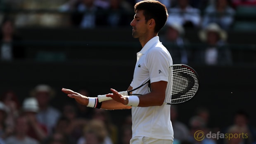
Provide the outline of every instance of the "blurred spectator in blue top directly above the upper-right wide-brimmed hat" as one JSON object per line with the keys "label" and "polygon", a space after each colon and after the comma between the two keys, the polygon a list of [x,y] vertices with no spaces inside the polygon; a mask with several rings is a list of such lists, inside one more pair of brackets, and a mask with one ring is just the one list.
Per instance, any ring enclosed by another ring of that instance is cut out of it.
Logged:
{"label": "blurred spectator in blue top directly above the upper-right wide-brimmed hat", "polygon": [[202,27],[209,23],[217,23],[220,28],[228,30],[234,22],[235,10],[230,7],[228,0],[216,0],[204,10]]}

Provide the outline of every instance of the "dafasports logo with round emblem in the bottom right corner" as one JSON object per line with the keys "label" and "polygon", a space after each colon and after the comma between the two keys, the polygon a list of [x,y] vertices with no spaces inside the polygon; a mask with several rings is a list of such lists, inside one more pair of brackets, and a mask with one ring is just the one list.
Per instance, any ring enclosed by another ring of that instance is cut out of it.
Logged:
{"label": "dafasports logo with round emblem in the bottom right corner", "polygon": [[220,133],[219,131],[217,133],[212,133],[209,132],[207,134],[205,134],[202,130],[197,130],[196,132],[194,132],[194,139],[196,139],[197,141],[202,141],[204,138],[209,138],[209,139],[247,139],[248,138],[248,134],[247,133]]}

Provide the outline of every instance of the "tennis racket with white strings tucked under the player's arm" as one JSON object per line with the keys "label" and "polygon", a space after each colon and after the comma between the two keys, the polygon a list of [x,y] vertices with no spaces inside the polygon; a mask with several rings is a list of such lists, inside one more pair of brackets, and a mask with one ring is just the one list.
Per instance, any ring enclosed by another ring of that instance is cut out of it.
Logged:
{"label": "tennis racket with white strings tucked under the player's arm", "polygon": [[[145,84],[149,84],[150,92],[150,79],[144,84],[134,88],[130,91],[121,91],[121,95],[141,95],[131,93]],[[194,97],[199,88],[199,79],[197,72],[188,65],[176,64],[169,67],[168,84],[166,88],[166,97],[164,104],[175,105],[186,102]],[[99,102],[111,100],[112,98],[106,95],[98,95]]]}

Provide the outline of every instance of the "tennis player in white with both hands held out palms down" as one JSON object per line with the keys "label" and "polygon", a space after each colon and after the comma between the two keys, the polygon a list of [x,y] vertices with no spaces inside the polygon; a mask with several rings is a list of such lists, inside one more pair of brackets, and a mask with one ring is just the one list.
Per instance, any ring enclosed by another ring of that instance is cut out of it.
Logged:
{"label": "tennis player in white with both hands held out palms down", "polygon": [[102,109],[132,109],[133,136],[130,144],[172,144],[173,128],[170,121],[170,105],[164,105],[168,81],[168,67],[173,64],[168,50],[159,41],[158,33],[168,18],[166,7],[156,0],[144,0],[135,4],[135,16],[130,25],[133,37],[138,38],[142,49],[137,53],[133,81],[128,90],[144,85],[133,91],[140,96],[121,95],[111,89],[107,97],[113,100],[99,102],[70,89],[62,91],[70,98],[88,107]]}

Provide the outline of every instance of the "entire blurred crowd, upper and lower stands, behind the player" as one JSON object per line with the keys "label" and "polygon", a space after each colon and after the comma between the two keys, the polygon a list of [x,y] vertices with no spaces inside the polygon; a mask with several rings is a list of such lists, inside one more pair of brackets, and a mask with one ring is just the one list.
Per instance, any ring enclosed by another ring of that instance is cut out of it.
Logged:
{"label": "entire blurred crowd, upper and lower stands, behind the player", "polygon": [[[26,48],[20,44],[22,37],[16,33],[16,27],[129,26],[134,15],[133,5],[138,1],[0,0],[0,60],[26,58]],[[239,7],[256,7],[256,0],[159,1],[169,12],[164,36],[160,40],[164,45],[171,45],[166,47],[173,63],[183,64],[232,65],[235,58],[228,47],[227,32],[237,21]],[[246,19],[249,20],[248,17]],[[200,49],[188,50],[190,39],[184,37],[188,29],[198,29],[195,37],[201,40]],[[256,62],[255,57],[254,60]],[[78,92],[89,95],[86,90]],[[48,85],[40,84],[28,93],[30,96],[23,100],[19,100],[19,93],[14,91],[0,95],[0,144],[129,144],[132,134],[130,115],[117,125],[106,110],[91,109],[73,102],[62,105],[61,109],[53,107],[50,102],[55,91]],[[250,125],[245,111],[237,111],[234,123],[226,128],[209,128],[210,113],[205,108],[199,108],[188,125],[178,121],[178,114],[177,107],[172,105],[174,144],[256,144],[256,130]],[[197,130],[205,133],[247,133],[248,138],[195,141]]]}

